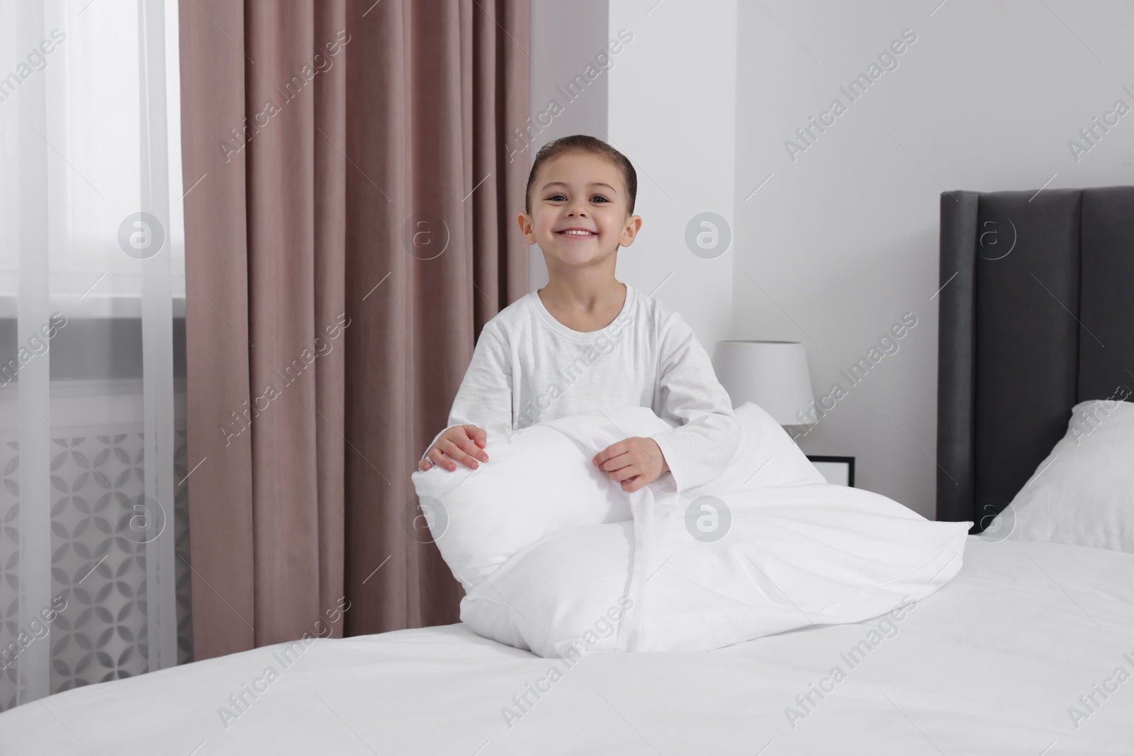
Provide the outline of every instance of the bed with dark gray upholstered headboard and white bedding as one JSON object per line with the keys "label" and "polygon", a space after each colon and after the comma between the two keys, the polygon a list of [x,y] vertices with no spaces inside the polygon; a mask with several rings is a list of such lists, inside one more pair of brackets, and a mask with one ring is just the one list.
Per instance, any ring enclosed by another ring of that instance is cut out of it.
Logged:
{"label": "bed with dark gray upholstered headboard and white bedding", "polygon": [[[575,664],[465,625],[282,644],[16,707],[0,756],[1134,753],[1134,554],[980,533],[1069,406],[1134,363],[1134,305],[1107,273],[1132,280],[1129,255],[1100,270],[1085,252],[1119,255],[1134,189],[1030,194],[942,195],[939,517],[975,525],[921,602]],[[989,220],[1012,228],[995,254]]]}

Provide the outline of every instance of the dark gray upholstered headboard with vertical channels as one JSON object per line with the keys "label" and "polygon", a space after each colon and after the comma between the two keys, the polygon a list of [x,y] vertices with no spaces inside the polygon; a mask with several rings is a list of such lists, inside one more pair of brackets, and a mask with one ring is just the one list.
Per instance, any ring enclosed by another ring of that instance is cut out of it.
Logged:
{"label": "dark gray upholstered headboard with vertical channels", "polygon": [[941,195],[937,518],[980,532],[1134,388],[1134,187]]}

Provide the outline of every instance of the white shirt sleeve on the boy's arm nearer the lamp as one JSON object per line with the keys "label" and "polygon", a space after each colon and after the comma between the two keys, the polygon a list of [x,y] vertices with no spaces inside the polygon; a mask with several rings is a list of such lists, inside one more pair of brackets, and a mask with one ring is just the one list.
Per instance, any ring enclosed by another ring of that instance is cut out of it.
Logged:
{"label": "white shirt sleeve on the boy's arm nearer the lamp", "polygon": [[733,400],[693,329],[672,315],[659,348],[655,400],[665,419],[680,425],[652,436],[669,465],[657,478],[662,491],[684,491],[717,477],[741,445]]}

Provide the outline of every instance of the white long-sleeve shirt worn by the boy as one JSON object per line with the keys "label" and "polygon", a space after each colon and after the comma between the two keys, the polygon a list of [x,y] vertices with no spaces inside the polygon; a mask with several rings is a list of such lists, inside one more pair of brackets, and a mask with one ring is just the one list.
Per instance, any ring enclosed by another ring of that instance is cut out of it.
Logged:
{"label": "white long-sleeve shirt worn by the boy", "polygon": [[535,291],[505,307],[481,331],[445,430],[476,425],[491,435],[617,406],[650,407],[674,427],[650,436],[669,465],[657,479],[665,491],[708,483],[741,443],[733,402],[693,330],[629,283],[621,312],[589,333],[557,321]]}

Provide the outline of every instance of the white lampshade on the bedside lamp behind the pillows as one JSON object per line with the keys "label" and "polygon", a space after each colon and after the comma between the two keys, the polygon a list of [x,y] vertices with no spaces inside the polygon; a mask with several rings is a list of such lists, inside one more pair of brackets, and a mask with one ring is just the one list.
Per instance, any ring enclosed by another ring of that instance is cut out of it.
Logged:
{"label": "white lampshade on the bedside lamp behind the pillows", "polygon": [[718,341],[713,367],[733,407],[751,401],[780,425],[815,423],[807,351],[798,341]]}

